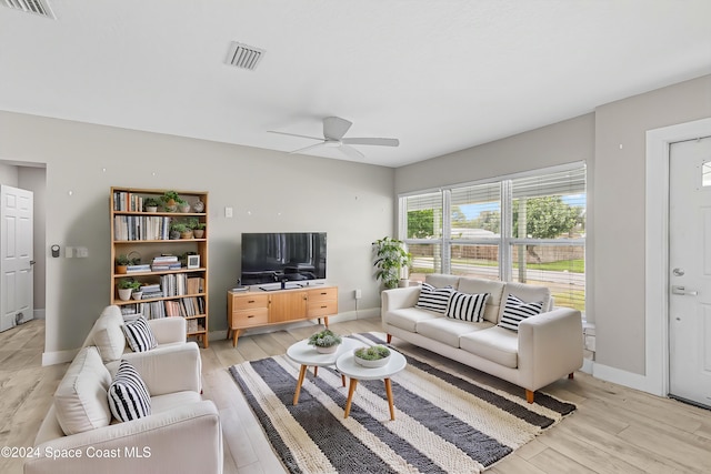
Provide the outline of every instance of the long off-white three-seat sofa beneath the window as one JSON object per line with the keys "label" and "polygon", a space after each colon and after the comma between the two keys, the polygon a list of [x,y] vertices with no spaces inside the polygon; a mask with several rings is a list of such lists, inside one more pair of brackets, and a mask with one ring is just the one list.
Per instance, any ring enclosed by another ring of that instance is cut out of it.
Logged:
{"label": "long off-white three-seat sofa beneath the window", "polygon": [[[484,321],[461,321],[418,307],[419,285],[385,290],[382,326],[388,342],[395,336],[519,385],[529,403],[537,390],[563,376],[572,379],[582,367],[581,313],[553,307],[549,289],[443,274],[430,274],[425,282],[467,294],[489,293]],[[543,311],[521,321],[518,332],[498,325],[509,294],[542,302]]]}

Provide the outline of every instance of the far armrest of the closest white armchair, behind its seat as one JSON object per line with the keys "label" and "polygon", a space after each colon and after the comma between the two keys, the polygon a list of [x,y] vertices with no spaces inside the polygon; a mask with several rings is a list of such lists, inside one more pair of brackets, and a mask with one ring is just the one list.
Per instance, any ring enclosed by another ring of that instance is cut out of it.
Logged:
{"label": "far armrest of the closest white armchair, behind its seat", "polygon": [[[202,359],[196,342],[168,344],[147,352],[127,352],[122,355],[136,367],[151,395],[202,390]],[[107,364],[113,374],[116,366]]]}

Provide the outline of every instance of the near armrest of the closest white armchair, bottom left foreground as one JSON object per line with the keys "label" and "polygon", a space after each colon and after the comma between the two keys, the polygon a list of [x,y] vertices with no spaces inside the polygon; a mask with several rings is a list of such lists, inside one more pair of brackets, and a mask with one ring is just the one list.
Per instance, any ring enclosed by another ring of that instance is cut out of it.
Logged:
{"label": "near armrest of the closest white armchair, bottom left foreground", "polygon": [[221,473],[222,430],[214,403],[201,401],[47,441],[36,453],[24,474]]}

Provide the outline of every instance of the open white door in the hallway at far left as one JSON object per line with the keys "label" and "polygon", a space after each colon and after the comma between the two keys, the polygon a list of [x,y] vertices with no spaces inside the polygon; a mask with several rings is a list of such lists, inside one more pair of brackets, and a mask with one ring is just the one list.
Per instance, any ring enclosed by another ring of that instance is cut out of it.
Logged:
{"label": "open white door in the hallway at far left", "polygon": [[32,319],[32,198],[0,186],[0,331]]}

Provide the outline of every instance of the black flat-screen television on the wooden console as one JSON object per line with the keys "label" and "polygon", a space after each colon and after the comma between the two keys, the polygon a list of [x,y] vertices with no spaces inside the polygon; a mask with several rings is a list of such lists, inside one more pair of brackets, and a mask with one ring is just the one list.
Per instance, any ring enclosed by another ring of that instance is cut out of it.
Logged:
{"label": "black flat-screen television on the wooden console", "polygon": [[324,279],[326,232],[242,233],[242,285]]}

